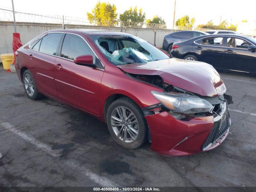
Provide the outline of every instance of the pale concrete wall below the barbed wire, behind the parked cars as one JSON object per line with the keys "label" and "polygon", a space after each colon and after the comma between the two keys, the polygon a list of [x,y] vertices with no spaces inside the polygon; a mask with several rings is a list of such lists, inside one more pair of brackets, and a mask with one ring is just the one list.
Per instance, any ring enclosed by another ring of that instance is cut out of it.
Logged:
{"label": "pale concrete wall below the barbed wire, behind the parked cars", "polygon": [[[38,36],[39,34],[52,30],[62,29],[61,24],[39,24],[39,23],[17,23],[17,32],[20,33],[22,44],[26,44],[29,40]],[[73,28],[87,28],[98,30],[122,31],[134,34],[154,44],[154,29],[144,28],[120,28],[120,27],[99,27],[99,26],[86,26],[86,25],[68,25],[66,29]],[[0,54],[12,53],[12,33],[14,32],[14,25],[12,22],[0,22]],[[164,35],[174,32],[174,30],[156,30],[156,46],[162,47]]]}

